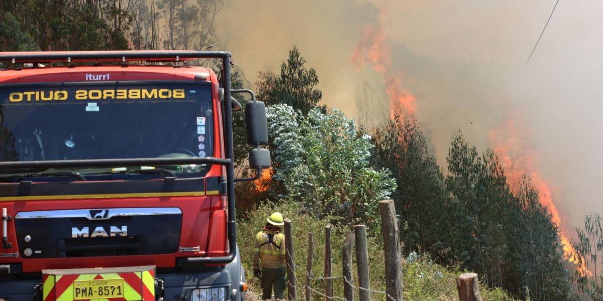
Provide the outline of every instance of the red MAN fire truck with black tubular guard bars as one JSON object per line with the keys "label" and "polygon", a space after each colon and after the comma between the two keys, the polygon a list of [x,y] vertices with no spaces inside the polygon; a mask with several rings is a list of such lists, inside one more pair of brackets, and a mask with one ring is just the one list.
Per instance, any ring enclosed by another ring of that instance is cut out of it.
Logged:
{"label": "red MAN fire truck with black tubular guard bars", "polygon": [[245,299],[234,190],[253,178],[234,177],[232,93],[251,95],[250,166],[270,153],[230,58],[0,53],[0,301]]}

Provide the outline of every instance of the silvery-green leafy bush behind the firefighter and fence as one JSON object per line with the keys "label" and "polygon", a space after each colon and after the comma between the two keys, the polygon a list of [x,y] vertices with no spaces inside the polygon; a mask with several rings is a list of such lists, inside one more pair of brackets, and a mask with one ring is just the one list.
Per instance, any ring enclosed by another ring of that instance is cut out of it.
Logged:
{"label": "silvery-green leafy bush behind the firefighter and fence", "polygon": [[318,217],[374,225],[377,202],[387,199],[396,182],[369,159],[373,144],[359,134],[353,119],[318,108],[307,116],[288,105],[268,108],[273,179],[279,199],[301,202]]}

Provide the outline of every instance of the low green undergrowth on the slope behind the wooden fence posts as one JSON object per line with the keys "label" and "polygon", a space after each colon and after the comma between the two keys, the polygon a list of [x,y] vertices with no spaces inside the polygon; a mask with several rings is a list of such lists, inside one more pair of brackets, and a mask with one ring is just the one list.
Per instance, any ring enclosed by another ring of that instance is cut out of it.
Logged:
{"label": "low green undergrowth on the slope behind the wooden fence posts", "polygon": [[[292,201],[283,201],[279,205],[265,203],[258,208],[239,216],[238,220],[238,243],[243,256],[242,262],[248,275],[248,285],[252,291],[260,292],[258,279],[252,278],[252,255],[256,233],[262,229],[266,217],[274,211],[283,213],[285,217],[292,220],[295,275],[297,276],[297,296],[302,299],[305,294],[306,261],[308,252],[308,232],[314,233],[314,261],[312,262],[312,273],[315,277],[324,276],[324,227],[329,224],[329,219],[317,219],[309,216],[303,207]],[[331,258],[332,273],[337,277],[342,275],[342,254],[344,233],[351,231],[348,226],[335,226],[331,232]],[[378,231],[376,231],[378,232]],[[382,241],[380,237],[368,237],[368,260],[370,264],[371,290],[385,290],[385,264],[383,260]],[[355,257],[355,256],[354,256]],[[356,267],[355,262],[353,262]],[[455,278],[460,271],[458,268],[448,270],[441,265],[435,264],[428,255],[417,255],[411,253],[403,260],[403,284],[405,300],[458,300]],[[353,271],[354,285],[358,286],[356,271]],[[312,288],[324,293],[324,280],[314,279]],[[507,301],[513,300],[502,290],[487,290],[482,287],[484,301]],[[355,290],[357,298],[358,290]],[[343,278],[333,279],[333,296],[343,297]],[[320,300],[318,293],[313,295],[315,300]],[[371,294],[371,300],[385,300],[379,293]]]}

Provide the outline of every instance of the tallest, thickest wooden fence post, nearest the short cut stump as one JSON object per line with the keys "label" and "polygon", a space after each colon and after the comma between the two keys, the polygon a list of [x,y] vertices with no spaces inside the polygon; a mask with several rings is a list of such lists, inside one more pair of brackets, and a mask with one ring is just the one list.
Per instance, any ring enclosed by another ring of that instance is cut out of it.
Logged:
{"label": "tallest, thickest wooden fence post, nearest the short cut stump", "polygon": [[393,200],[379,202],[385,252],[385,292],[388,301],[402,301],[402,255],[398,244],[398,219]]}

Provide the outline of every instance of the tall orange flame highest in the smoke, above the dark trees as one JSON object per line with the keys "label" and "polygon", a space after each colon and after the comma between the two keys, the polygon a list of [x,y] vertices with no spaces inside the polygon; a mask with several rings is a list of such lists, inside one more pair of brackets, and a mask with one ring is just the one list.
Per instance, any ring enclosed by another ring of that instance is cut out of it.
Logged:
{"label": "tall orange flame highest in the smoke, above the dark trees", "polygon": [[370,63],[373,70],[383,76],[385,91],[390,96],[390,118],[394,119],[396,111],[404,115],[411,115],[417,111],[417,100],[402,87],[400,75],[392,70],[390,47],[387,45],[385,32],[385,15],[379,16],[379,23],[370,25],[362,31],[362,38],[356,45],[352,56],[352,64],[362,68],[365,63]]}

